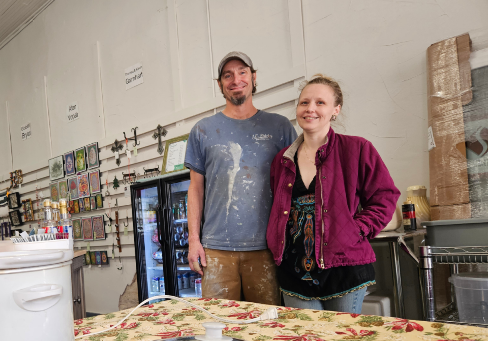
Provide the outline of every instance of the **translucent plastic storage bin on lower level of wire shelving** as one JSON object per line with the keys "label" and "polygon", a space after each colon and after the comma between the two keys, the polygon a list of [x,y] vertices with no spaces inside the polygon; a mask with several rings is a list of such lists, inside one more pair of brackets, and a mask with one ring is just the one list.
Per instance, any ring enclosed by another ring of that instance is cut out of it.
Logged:
{"label": "translucent plastic storage bin on lower level of wire shelving", "polygon": [[449,282],[456,292],[459,321],[488,323],[488,272],[453,274]]}

